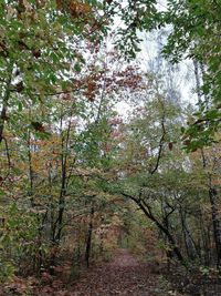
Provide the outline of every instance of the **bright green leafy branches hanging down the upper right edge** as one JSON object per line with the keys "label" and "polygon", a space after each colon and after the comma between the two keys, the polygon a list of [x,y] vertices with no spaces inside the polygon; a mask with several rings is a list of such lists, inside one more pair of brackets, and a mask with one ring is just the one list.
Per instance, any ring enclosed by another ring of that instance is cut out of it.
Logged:
{"label": "bright green leafy branches hanging down the upper right edge", "polygon": [[168,1],[162,13],[161,24],[172,24],[165,54],[173,62],[193,59],[201,68],[199,112],[185,132],[189,151],[214,142],[220,127],[220,12],[214,1]]}

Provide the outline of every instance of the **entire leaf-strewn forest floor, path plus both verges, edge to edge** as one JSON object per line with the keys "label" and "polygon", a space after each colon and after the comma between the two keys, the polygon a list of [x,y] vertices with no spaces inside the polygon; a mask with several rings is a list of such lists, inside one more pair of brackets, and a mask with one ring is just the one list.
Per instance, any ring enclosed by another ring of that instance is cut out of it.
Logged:
{"label": "entire leaf-strewn forest floor, path plus both verges, edge to edge", "polygon": [[0,286],[0,296],[221,296],[217,276],[187,276],[180,268],[168,272],[128,249],[117,249],[109,262],[94,263],[74,279],[70,272],[64,273],[65,265],[61,267],[61,274],[56,269],[54,276],[43,273],[41,278],[15,277]]}

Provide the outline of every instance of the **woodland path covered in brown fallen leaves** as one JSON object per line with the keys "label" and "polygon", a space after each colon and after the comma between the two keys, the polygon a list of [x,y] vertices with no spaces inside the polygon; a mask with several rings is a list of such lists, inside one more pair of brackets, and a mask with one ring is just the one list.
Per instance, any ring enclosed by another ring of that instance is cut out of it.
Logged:
{"label": "woodland path covered in brown fallen leaves", "polygon": [[[112,262],[92,268],[74,285],[72,296],[166,296],[160,276],[127,249],[118,249]],[[175,295],[175,294],[173,294]]]}

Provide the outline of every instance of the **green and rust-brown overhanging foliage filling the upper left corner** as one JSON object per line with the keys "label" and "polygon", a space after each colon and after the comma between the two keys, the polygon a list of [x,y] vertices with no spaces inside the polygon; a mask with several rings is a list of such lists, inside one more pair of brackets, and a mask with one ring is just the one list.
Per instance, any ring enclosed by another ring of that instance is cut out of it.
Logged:
{"label": "green and rust-brown overhanging foliage filling the upper left corner", "polygon": [[[63,4],[53,0],[2,2],[0,142],[4,124],[13,122],[14,112],[88,86],[80,85],[74,73],[84,63],[81,40],[98,35],[92,28],[96,23],[95,11],[90,3]],[[32,125],[38,131],[41,122]]]}

